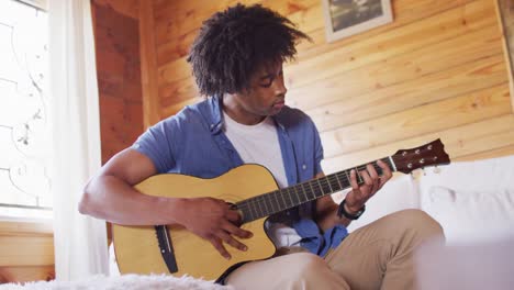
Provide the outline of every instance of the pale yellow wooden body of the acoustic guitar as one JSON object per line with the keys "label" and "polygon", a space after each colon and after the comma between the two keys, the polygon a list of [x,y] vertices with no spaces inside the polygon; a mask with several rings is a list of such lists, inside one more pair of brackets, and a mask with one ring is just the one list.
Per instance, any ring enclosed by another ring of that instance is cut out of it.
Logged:
{"label": "pale yellow wooden body of the acoustic guitar", "polygon": [[[235,203],[277,190],[271,174],[259,165],[244,165],[213,179],[183,175],[153,176],[135,188],[144,194],[169,198],[212,197]],[[248,250],[242,252],[224,244],[232,256],[223,258],[213,245],[180,225],[168,225],[178,271],[170,272],[163,259],[154,226],[124,226],[113,224],[113,242],[121,274],[170,274],[177,277],[214,280],[232,266],[271,257],[276,247],[265,232],[266,217],[242,225],[252,238],[242,239]]]}

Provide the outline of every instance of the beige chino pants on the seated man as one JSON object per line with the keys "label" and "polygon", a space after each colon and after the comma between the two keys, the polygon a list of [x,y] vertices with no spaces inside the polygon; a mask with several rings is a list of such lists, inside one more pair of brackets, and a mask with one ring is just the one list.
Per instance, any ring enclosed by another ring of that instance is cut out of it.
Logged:
{"label": "beige chino pants on the seated man", "polygon": [[349,234],[321,258],[294,253],[248,263],[227,278],[239,289],[415,289],[414,249],[444,242],[443,228],[420,210],[392,213]]}

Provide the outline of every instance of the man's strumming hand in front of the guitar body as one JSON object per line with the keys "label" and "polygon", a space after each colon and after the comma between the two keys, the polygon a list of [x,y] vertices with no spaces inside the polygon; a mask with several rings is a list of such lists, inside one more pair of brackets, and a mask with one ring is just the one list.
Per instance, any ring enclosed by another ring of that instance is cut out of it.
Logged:
{"label": "man's strumming hand in front of the guitar body", "polygon": [[252,237],[252,232],[242,230],[236,224],[241,222],[237,211],[231,210],[230,204],[223,200],[213,198],[195,198],[186,200],[186,216],[182,225],[192,233],[211,242],[211,244],[226,259],[231,255],[223,246],[223,242],[228,245],[246,250],[247,247],[233,237]]}

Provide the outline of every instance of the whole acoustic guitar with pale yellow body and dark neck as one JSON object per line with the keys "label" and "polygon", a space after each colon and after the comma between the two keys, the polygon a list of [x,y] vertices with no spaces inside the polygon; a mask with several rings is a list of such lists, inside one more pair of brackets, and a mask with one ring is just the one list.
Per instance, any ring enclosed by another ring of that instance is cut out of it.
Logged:
{"label": "whole acoustic guitar with pale yellow body and dark neck", "polygon": [[[409,174],[427,166],[449,164],[440,140],[423,146],[402,149],[382,158],[393,171]],[[375,167],[379,175],[381,168]],[[144,194],[172,198],[212,197],[233,204],[242,214],[242,228],[253,232],[244,239],[248,250],[241,252],[225,244],[232,256],[227,260],[211,245],[181,225],[113,225],[116,261],[122,274],[170,274],[177,277],[214,280],[233,268],[252,260],[271,257],[276,247],[265,232],[267,216],[332,194],[350,187],[350,170],[279,189],[272,175],[259,165],[243,165],[212,179],[177,174],[149,177],[135,188]],[[358,176],[359,183],[362,179]]]}

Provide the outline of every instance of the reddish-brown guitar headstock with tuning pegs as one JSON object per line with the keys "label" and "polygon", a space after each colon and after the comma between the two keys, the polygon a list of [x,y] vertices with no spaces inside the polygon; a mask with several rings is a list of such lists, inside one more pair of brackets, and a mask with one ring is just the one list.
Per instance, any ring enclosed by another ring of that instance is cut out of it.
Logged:
{"label": "reddish-brown guitar headstock with tuning pegs", "polygon": [[439,138],[420,147],[398,150],[391,158],[396,171],[404,174],[410,174],[418,168],[450,163],[449,156],[445,152],[445,145]]}

